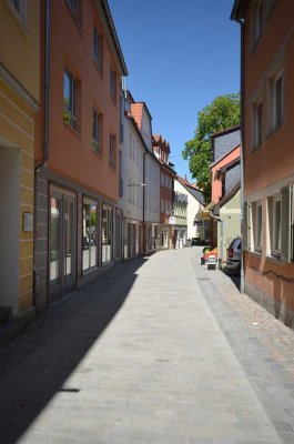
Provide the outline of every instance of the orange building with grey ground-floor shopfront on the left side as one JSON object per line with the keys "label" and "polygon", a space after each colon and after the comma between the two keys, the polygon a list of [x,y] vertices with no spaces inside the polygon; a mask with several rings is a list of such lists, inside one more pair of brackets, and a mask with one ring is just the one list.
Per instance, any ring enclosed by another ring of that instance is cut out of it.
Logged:
{"label": "orange building with grey ground-floor shopfront on the left side", "polygon": [[120,79],[128,73],[107,1],[42,1],[41,23],[37,310],[120,260]]}

